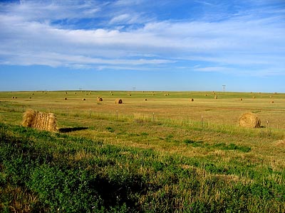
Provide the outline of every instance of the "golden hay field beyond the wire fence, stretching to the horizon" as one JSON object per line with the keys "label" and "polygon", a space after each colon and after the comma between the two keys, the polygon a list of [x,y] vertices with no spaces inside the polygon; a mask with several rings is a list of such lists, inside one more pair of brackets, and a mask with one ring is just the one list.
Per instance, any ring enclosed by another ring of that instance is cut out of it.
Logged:
{"label": "golden hay field beyond the wire fence, stretching to the horizon", "polygon": [[[165,96],[165,94],[169,95]],[[205,96],[206,94],[207,96]],[[215,96],[217,99],[214,99]],[[103,102],[98,102],[98,97],[102,97]],[[123,100],[123,104],[114,104],[115,99],[118,98]],[[189,99],[194,99],[194,101],[190,102]],[[69,114],[86,112],[87,114],[119,114],[150,118],[155,114],[155,119],[191,121],[203,119],[210,124],[227,125],[236,125],[237,119],[242,113],[252,111],[261,119],[261,126],[270,126],[274,129],[285,128],[285,94],[250,92],[1,92],[0,102],[2,110],[6,106],[15,111],[32,108],[54,113],[68,111]],[[1,117],[4,120],[3,114]]]}

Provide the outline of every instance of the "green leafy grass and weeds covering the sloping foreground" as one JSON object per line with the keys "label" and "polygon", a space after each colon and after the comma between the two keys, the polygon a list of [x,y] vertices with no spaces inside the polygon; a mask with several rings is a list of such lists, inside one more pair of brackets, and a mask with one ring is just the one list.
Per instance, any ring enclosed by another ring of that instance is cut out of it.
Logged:
{"label": "green leafy grass and weeds covering the sloping foreground", "polygon": [[0,212],[284,212],[284,180],[284,170],[248,158],[191,158],[0,124]]}

